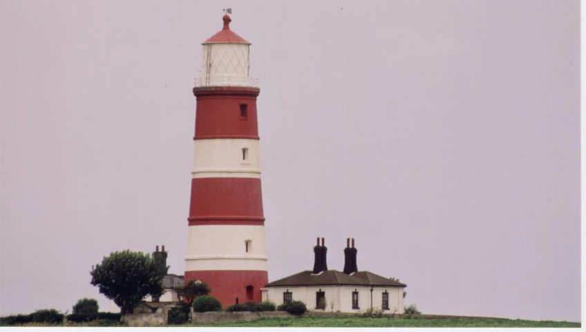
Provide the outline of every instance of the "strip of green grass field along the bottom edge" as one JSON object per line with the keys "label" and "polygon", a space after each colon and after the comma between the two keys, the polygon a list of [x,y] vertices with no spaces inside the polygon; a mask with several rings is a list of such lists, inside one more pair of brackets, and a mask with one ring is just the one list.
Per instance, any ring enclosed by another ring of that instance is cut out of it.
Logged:
{"label": "strip of green grass field along the bottom edge", "polygon": [[261,318],[252,322],[187,324],[208,327],[580,327],[579,322],[471,319],[406,319],[406,318]]}

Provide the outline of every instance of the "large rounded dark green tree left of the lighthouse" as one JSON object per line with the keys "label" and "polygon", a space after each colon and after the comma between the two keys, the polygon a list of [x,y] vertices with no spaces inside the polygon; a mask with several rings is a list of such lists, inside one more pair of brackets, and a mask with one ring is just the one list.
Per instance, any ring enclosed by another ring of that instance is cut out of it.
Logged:
{"label": "large rounded dark green tree left of the lighthouse", "polygon": [[116,251],[104,257],[91,271],[91,284],[100,288],[100,293],[120,306],[120,313],[133,313],[142,299],[151,295],[160,297],[164,289],[162,278],[167,274],[156,266],[149,254],[133,251]]}

